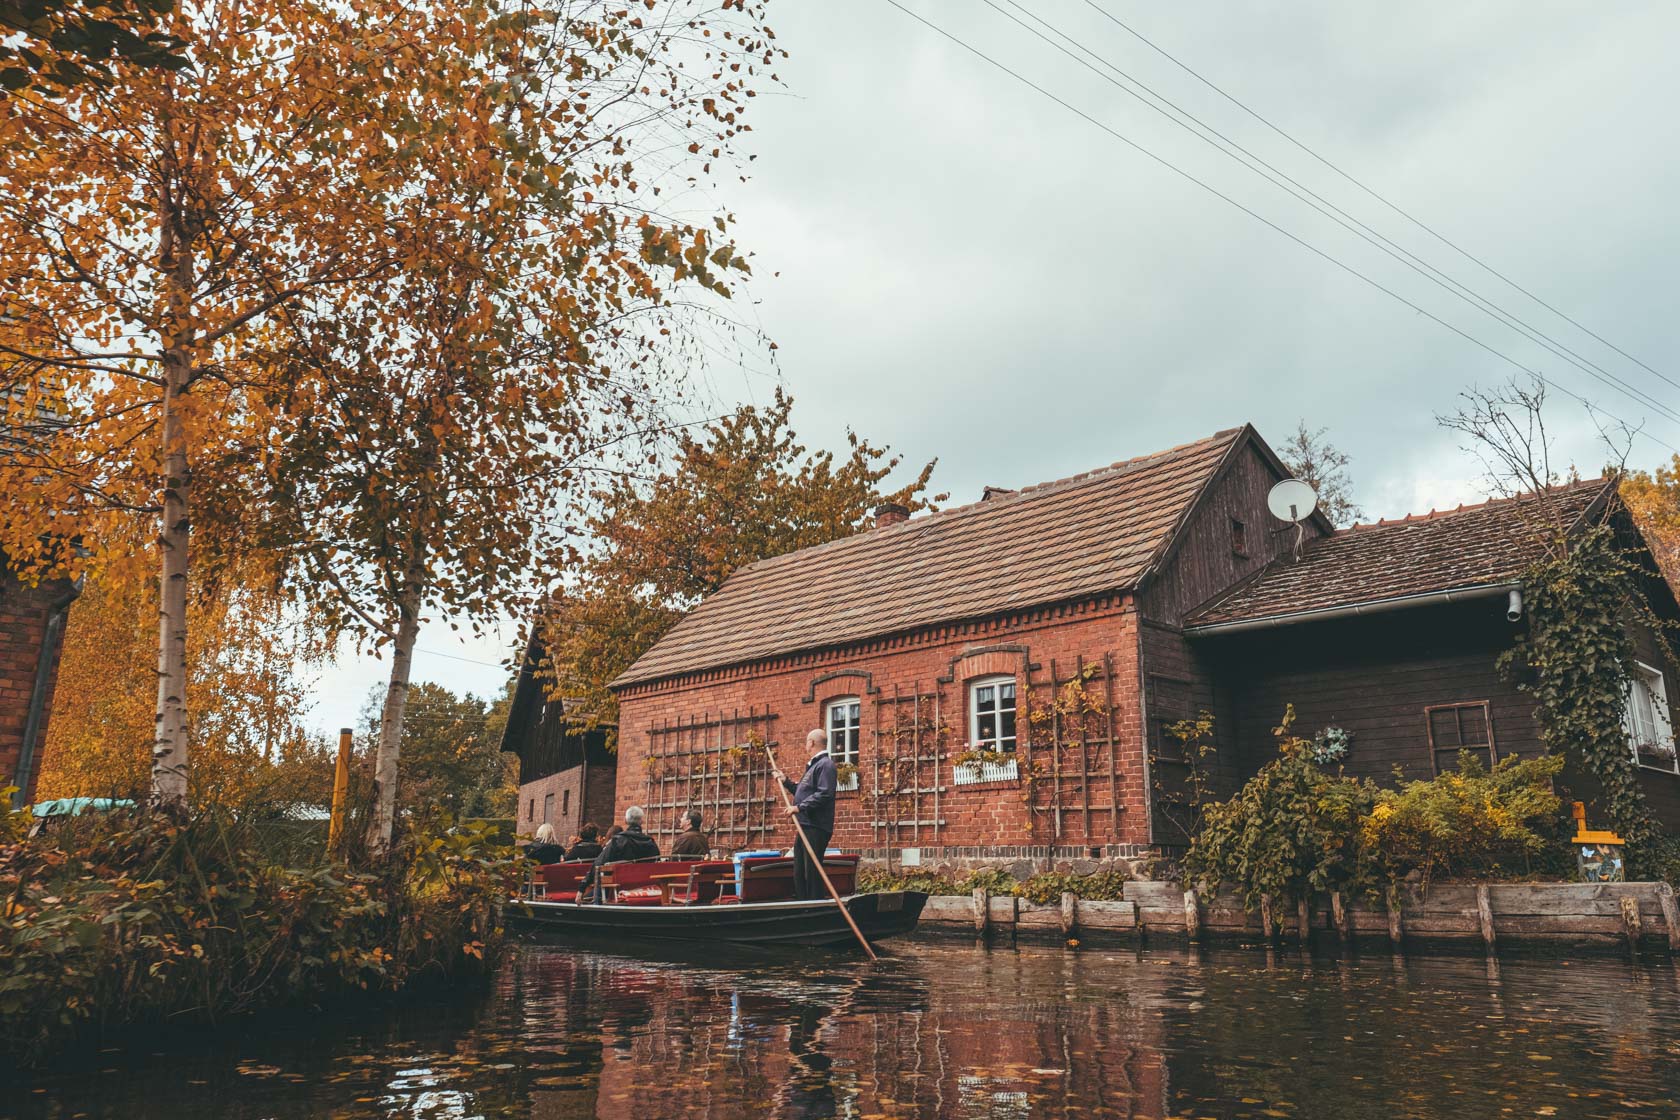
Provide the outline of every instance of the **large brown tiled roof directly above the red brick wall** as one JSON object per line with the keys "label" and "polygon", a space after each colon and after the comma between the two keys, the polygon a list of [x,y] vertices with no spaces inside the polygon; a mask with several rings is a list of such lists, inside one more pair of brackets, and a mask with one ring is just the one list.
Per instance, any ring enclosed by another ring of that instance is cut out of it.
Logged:
{"label": "large brown tiled roof directly above the red brick wall", "polygon": [[1136,586],[1247,432],[749,564],[613,683]]}

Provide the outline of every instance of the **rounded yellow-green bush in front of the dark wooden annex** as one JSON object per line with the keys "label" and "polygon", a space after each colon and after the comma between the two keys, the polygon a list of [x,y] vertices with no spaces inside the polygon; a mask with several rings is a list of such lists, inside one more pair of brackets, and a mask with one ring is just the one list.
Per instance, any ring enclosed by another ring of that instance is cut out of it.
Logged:
{"label": "rounded yellow-green bush in front of the dark wooden annex", "polygon": [[1549,754],[1500,759],[1488,771],[1462,751],[1457,772],[1381,793],[1359,826],[1366,861],[1389,880],[1420,871],[1425,887],[1436,877],[1527,870],[1549,843],[1536,826],[1562,808],[1551,788],[1562,766]]}

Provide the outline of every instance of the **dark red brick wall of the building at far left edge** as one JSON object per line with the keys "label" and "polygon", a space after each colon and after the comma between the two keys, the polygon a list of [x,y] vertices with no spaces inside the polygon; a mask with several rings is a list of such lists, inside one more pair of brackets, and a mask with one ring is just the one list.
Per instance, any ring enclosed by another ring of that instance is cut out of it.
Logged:
{"label": "dark red brick wall of the building at far left edge", "polygon": [[0,556],[0,786],[17,786],[15,804],[35,796],[64,623],[79,593],[69,579],[30,584]]}

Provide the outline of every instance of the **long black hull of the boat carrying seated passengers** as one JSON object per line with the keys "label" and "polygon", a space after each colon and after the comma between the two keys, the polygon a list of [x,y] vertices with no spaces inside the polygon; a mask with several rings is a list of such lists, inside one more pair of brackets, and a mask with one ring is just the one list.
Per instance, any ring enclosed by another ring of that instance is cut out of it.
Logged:
{"label": "long black hull of the boat carrying seated passengers", "polygon": [[[916,929],[927,895],[892,890],[852,895],[847,910],[869,940]],[[516,898],[507,903],[511,927],[576,937],[642,944],[712,942],[736,945],[845,945],[857,939],[830,898],[818,902],[743,902],[709,907],[617,907]]]}

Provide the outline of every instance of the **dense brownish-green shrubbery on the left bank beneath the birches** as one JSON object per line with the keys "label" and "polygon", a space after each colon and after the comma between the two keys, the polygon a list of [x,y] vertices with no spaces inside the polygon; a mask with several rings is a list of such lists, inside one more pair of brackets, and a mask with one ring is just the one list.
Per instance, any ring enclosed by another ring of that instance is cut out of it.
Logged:
{"label": "dense brownish-green shrubbery on the left bank beneath the birches", "polygon": [[[10,814],[18,818],[22,814]],[[0,1049],[218,1021],[482,972],[519,871],[482,828],[410,833],[371,870],[282,866],[227,809],[0,836]]]}

